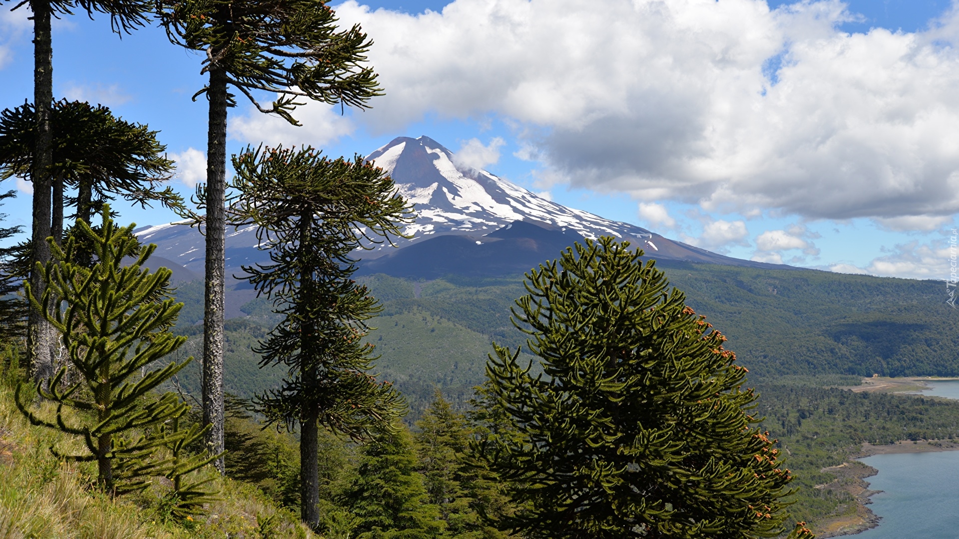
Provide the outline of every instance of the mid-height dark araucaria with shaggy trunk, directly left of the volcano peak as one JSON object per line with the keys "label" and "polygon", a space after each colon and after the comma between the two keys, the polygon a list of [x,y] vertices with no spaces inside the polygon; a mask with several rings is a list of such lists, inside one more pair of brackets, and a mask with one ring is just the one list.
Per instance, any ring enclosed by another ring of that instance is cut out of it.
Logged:
{"label": "mid-height dark araucaria with shaggy trunk, directly left of the volcano peak", "polygon": [[381,307],[350,279],[350,255],[399,235],[410,210],[393,180],[359,155],[348,161],[312,148],[247,148],[233,168],[240,194],[231,223],[255,224],[271,261],[244,269],[283,316],[255,351],[262,365],[286,364],[289,376],[261,405],[271,420],[299,424],[302,518],[316,527],[318,429],[365,437],[388,430],[405,407],[393,387],[367,373],[366,322]]}

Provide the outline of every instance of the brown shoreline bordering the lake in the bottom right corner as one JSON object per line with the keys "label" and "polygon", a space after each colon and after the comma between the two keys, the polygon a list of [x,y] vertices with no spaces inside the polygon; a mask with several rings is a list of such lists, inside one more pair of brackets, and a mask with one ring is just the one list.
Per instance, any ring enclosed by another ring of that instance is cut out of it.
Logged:
{"label": "brown shoreline bordering the lake in the bottom right corner", "polygon": [[879,471],[862,462],[859,458],[875,455],[901,455],[907,453],[941,453],[945,451],[959,451],[959,440],[900,440],[893,444],[873,445],[864,442],[858,451],[850,453],[847,460],[838,466],[823,468],[823,472],[836,477],[829,483],[816,485],[824,490],[839,490],[853,496],[853,506],[846,506],[845,514],[825,519],[815,525],[817,537],[838,537],[841,535],[855,535],[867,529],[879,526],[882,517],[868,507],[874,495],[881,490],[871,490],[866,478],[871,478]]}

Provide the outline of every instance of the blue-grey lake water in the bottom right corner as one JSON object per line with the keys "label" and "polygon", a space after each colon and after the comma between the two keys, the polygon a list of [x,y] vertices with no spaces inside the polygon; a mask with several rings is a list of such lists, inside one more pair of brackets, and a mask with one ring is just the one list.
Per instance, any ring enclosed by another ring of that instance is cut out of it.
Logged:
{"label": "blue-grey lake water in the bottom right corner", "polygon": [[[943,395],[945,396],[945,395]],[[879,473],[869,481],[869,507],[879,526],[861,539],[959,538],[959,451],[905,453],[861,458]]]}

